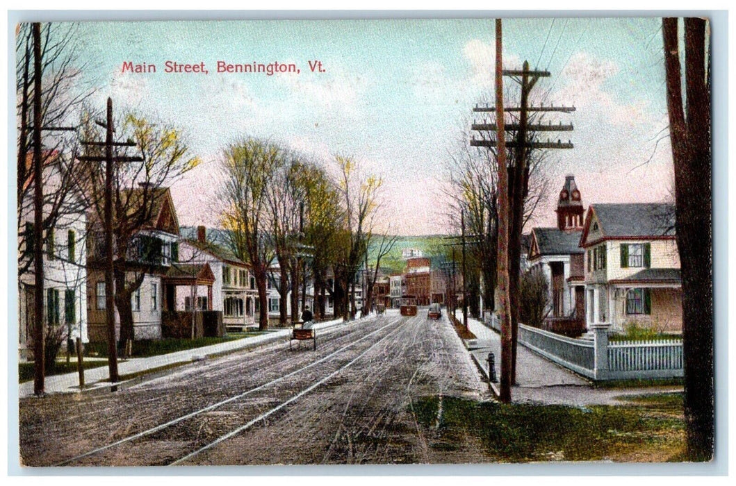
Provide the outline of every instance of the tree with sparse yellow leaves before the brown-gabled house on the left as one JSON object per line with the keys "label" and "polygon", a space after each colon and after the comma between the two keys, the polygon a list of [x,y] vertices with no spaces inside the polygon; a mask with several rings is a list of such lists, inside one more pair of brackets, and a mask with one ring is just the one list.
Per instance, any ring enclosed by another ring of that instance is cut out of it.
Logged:
{"label": "tree with sparse yellow leaves before the brown-gabled house on the left", "polygon": [[[88,140],[96,140],[88,118],[85,125]],[[135,339],[131,296],[144,281],[146,274],[157,274],[162,268],[161,240],[142,232],[155,228],[155,218],[169,197],[168,186],[180,175],[199,163],[191,157],[182,132],[163,123],[152,123],[141,115],[129,114],[117,124],[121,137],[135,143],[143,162],[115,162],[113,167],[113,268],[115,307],[120,316],[120,341],[127,344]],[[99,146],[88,151],[95,154]],[[102,165],[88,164],[85,196],[90,204],[91,235],[88,265],[96,268],[103,259],[102,221],[105,215],[105,171]],[[174,229],[171,229],[174,231]],[[127,349],[127,346],[124,347]],[[124,351],[125,352],[125,351]]]}

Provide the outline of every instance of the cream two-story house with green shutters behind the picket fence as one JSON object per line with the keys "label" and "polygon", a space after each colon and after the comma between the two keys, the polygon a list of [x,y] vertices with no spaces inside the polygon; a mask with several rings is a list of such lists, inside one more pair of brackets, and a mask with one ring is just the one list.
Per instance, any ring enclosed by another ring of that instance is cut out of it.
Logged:
{"label": "cream two-story house with green shutters behind the picket fence", "polygon": [[585,250],[586,322],[682,332],[673,204],[592,204]]}

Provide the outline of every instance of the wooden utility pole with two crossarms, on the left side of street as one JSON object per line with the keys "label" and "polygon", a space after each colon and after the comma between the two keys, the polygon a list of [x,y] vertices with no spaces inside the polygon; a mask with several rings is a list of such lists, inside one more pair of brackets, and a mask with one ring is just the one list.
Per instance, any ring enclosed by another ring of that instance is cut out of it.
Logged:
{"label": "wooden utility pole with two crossarms, on the left side of street", "polygon": [[[107,324],[107,368],[110,372],[110,383],[117,383],[118,349],[115,335],[115,302],[113,300],[113,276],[115,262],[113,255],[113,162],[143,162],[143,157],[113,157],[113,146],[135,146],[135,143],[113,141],[113,99],[107,98],[107,123],[97,124],[105,127],[105,142],[84,141],[86,146],[105,146],[105,157],[83,156],[83,162],[105,162],[105,321]],[[194,301],[192,301],[194,315]],[[115,390],[115,388],[113,388]]]}

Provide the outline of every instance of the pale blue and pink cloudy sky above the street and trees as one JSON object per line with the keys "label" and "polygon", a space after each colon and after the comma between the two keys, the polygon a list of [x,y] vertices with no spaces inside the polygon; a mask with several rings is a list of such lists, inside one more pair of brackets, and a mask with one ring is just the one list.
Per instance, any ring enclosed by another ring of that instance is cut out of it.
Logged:
{"label": "pale blue and pink cloudy sky above the street and trees", "polygon": [[[584,204],[668,201],[659,18],[504,19],[504,68],[547,69],[533,98],[574,105],[553,122],[572,150],[551,151],[549,197],[533,226],[554,226],[556,196],[574,174]],[[91,101],[135,108],[183,130],[202,163],[172,185],[181,225],[216,226],[213,176],[238,137],[269,138],[330,167],[350,155],[383,178],[381,221],[401,235],[446,233],[447,160],[492,101],[493,19],[89,22],[79,29]],[[208,74],[166,74],[167,60]],[[216,73],[217,61],[294,63],[300,73]],[[312,72],[309,61],[322,62]],[[156,73],[122,72],[124,62]],[[505,80],[507,87],[512,81]],[[664,130],[664,131],[663,131]],[[662,140],[660,140],[662,139]],[[528,228],[527,228],[528,230]]]}

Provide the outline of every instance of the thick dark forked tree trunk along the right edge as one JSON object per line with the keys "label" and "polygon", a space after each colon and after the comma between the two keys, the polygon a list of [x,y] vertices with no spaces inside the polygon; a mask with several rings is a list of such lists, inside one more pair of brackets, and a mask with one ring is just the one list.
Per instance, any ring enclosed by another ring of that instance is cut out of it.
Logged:
{"label": "thick dark forked tree trunk along the right edge", "polygon": [[682,272],[687,457],[708,461],[714,445],[710,56],[703,18],[684,19],[685,95],[678,19],[662,20],[670,143],[675,168],[677,247]]}

